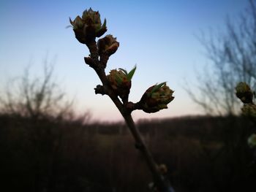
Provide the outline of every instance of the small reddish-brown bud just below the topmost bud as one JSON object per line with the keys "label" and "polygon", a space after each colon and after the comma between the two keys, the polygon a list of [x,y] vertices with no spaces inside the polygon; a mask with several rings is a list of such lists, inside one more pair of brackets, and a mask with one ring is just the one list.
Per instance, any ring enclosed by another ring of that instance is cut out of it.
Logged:
{"label": "small reddish-brown bud just below the topmost bud", "polygon": [[119,42],[117,42],[116,38],[109,34],[106,37],[99,39],[97,45],[99,48],[99,55],[106,52],[108,56],[110,56],[113,53],[116,53],[116,50],[119,47]]}

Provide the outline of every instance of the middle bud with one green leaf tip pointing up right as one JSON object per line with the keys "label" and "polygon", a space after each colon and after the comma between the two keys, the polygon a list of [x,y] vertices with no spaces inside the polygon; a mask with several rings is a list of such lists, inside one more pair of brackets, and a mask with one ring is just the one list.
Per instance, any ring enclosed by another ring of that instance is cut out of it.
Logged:
{"label": "middle bud with one green leaf tip pointing up right", "polygon": [[128,99],[129,90],[132,86],[132,76],[135,73],[136,66],[131,72],[127,73],[124,69],[111,70],[110,74],[107,75],[113,91],[116,92],[121,99]]}

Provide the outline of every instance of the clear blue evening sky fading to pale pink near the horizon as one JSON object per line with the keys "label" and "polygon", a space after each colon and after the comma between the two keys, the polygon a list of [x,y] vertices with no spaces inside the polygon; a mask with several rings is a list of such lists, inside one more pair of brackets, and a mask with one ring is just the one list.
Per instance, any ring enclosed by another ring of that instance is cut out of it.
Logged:
{"label": "clear blue evening sky fading to pale pink near the horizon", "polygon": [[108,96],[95,95],[99,78],[83,61],[89,50],[75,39],[72,28],[66,28],[69,17],[75,19],[91,7],[107,19],[106,34],[120,42],[106,73],[137,66],[129,100],[139,101],[157,82],[166,81],[175,91],[167,110],[135,111],[135,120],[203,114],[184,90],[185,82],[192,82],[194,90],[195,72],[208,62],[196,36],[211,29],[222,31],[227,15],[236,18],[246,5],[246,0],[1,0],[0,91],[29,64],[32,75],[42,75],[47,57],[55,63],[56,82],[75,101],[78,113],[89,111],[93,120],[122,120]]}

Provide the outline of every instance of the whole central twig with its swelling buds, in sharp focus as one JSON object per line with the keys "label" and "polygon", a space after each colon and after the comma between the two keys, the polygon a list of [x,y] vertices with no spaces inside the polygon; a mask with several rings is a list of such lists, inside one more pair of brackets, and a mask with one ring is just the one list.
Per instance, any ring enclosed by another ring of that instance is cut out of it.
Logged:
{"label": "whole central twig with its swelling buds, in sharp focus", "polygon": [[162,192],[173,192],[174,190],[170,182],[162,175],[154,158],[144,144],[131,115],[133,110],[158,112],[167,108],[167,104],[174,98],[172,96],[173,91],[167,87],[165,82],[162,82],[159,85],[148,88],[138,103],[129,102],[129,89],[131,88],[131,79],[136,67],[129,73],[124,69],[120,69],[119,71],[112,70],[107,77],[105,67],[108,63],[108,58],[113,53],[116,53],[119,43],[112,35],[107,35],[99,39],[97,43],[95,41],[96,37],[101,37],[107,31],[106,20],[104,20],[102,25],[99,12],[89,9],[83,12],[82,18],[78,16],[75,20],[72,21],[69,19],[69,21],[75,31],[75,37],[80,43],[86,44],[89,48],[90,55],[89,57],[85,57],[84,61],[94,69],[102,82],[102,85],[97,85],[94,88],[95,93],[108,95],[113,103],[116,104],[119,112],[121,112],[135,139],[135,147],[142,153],[153,175],[154,189]]}

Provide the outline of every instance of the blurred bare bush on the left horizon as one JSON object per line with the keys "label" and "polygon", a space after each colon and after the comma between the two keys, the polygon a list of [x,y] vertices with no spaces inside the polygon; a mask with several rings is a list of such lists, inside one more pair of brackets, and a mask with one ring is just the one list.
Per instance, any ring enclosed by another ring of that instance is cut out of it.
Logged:
{"label": "blurred bare bush on the left horizon", "polygon": [[72,101],[53,80],[53,64],[45,58],[43,76],[31,77],[30,68],[22,77],[10,80],[0,97],[0,112],[27,118],[73,118]]}

